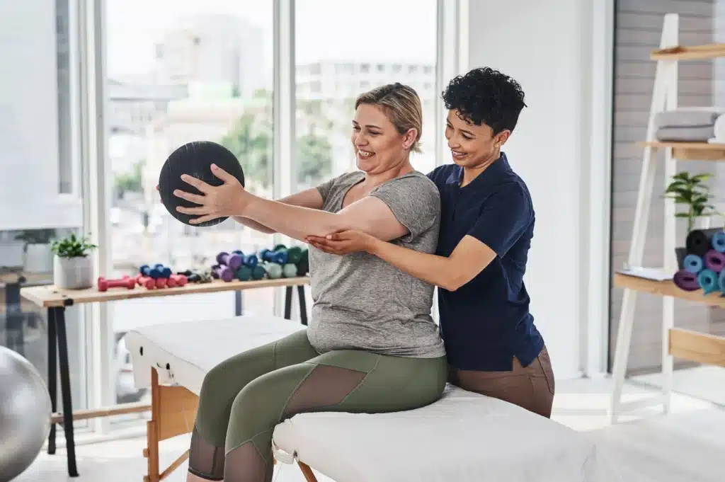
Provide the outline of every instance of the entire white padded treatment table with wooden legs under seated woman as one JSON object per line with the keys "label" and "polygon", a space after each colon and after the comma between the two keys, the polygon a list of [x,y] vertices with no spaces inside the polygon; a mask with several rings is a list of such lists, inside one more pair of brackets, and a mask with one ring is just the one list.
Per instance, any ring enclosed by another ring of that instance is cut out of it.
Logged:
{"label": "entire white padded treatment table with wooden legs under seated woman", "polygon": [[[126,344],[138,388],[151,388],[145,482],[159,482],[159,443],[190,433],[204,375],[254,346],[305,329],[271,316],[152,325]],[[571,428],[488,396],[447,386],[438,402],[387,414],[315,412],[277,425],[276,462],[336,482],[617,482],[599,449]]]}

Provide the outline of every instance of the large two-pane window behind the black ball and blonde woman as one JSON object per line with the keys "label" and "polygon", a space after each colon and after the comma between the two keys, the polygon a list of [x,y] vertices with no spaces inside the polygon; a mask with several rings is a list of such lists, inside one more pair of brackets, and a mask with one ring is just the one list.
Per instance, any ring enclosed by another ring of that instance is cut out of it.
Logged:
{"label": "large two-pane window behind the black ball and blonde woman", "polygon": [[[104,0],[102,28],[86,26],[101,33],[99,44],[88,40],[94,32],[83,37],[91,43],[85,46],[88,52],[95,49],[104,66],[102,79],[93,78],[99,74],[92,67],[87,71],[89,83],[103,85],[102,105],[92,92],[83,94],[105,120],[100,133],[104,159],[99,161],[105,168],[95,172],[106,177],[93,179],[91,174],[91,185],[100,188],[86,199],[101,201],[96,206],[110,199],[107,212],[96,220],[99,229],[107,230],[108,241],[99,246],[101,259],[109,260],[104,274],[136,275],[141,265],[157,263],[175,272],[204,269],[215,264],[219,252],[258,252],[290,242],[232,220],[213,228],[191,227],[166,211],[155,189],[159,170],[172,151],[190,141],[223,144],[243,165],[247,188],[278,199],[355,170],[350,149],[355,97],[401,82],[415,88],[423,102],[424,153],[414,154],[413,165],[423,173],[432,170],[436,141],[442,137],[442,121],[436,119],[436,112],[442,112],[436,110],[442,72],[436,66],[445,49],[436,44],[443,37],[438,12],[457,15],[454,5],[455,0],[368,2],[366,12],[385,12],[369,20],[376,25],[370,36],[365,27],[355,27],[362,25],[360,10],[349,2]],[[292,19],[294,25],[289,25]],[[452,58],[455,42],[444,43]],[[94,157],[83,159],[83,173],[94,172],[88,168]],[[114,348],[107,353],[101,343],[91,349],[94,360],[102,360],[101,373],[108,365],[113,378],[89,387],[94,400],[107,399],[109,393],[117,403],[149,398],[133,381],[124,344],[129,330],[239,312],[282,315],[283,295],[282,288],[265,288],[244,291],[241,299],[223,293],[106,304],[94,316],[108,317],[110,323],[94,326],[102,327],[101,338]],[[294,299],[294,318],[297,306]],[[308,315],[311,307],[308,299]]]}

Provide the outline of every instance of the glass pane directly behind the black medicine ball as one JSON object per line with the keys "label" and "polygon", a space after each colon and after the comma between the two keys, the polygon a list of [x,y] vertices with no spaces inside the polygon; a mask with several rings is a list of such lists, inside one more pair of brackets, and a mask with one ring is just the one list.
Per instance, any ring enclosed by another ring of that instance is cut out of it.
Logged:
{"label": "glass pane directly behind the black medicine ball", "polygon": [[[271,236],[233,220],[211,228],[180,223],[155,186],[172,151],[204,140],[236,154],[249,191],[273,196],[273,2],[107,0],[106,12],[112,275],[157,263],[173,273],[209,269],[220,252],[272,248]],[[272,313],[273,296],[273,289],[245,291],[244,314]],[[147,324],[233,317],[236,299],[231,292],[154,297],[109,309],[117,400],[134,402],[148,394],[134,386],[123,335]]]}

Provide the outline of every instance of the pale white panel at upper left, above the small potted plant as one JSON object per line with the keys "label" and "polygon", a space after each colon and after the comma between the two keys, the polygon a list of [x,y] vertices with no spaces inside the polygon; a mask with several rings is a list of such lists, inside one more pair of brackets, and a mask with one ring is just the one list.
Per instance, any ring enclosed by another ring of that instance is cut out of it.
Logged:
{"label": "pale white panel at upper left, above the small potted plant", "polygon": [[59,196],[56,42],[54,2],[0,1],[0,230],[81,220]]}

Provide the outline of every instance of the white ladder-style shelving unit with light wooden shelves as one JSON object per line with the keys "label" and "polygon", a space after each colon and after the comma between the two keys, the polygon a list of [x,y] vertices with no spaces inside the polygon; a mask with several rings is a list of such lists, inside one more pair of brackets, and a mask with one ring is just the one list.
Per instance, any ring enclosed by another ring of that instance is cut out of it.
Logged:
{"label": "white ladder-style shelving unit with light wooden shelves", "polygon": [[[725,160],[725,144],[692,142],[659,142],[655,138],[655,116],[658,112],[677,108],[678,65],[687,60],[713,59],[725,57],[725,43],[712,43],[702,46],[679,45],[679,16],[666,14],[663,21],[660,49],[650,55],[657,62],[653,88],[650,117],[647,124],[645,141],[639,143],[643,148],[642,173],[639,178],[637,208],[634,215],[628,266],[641,267],[645,251],[647,220],[655,188],[657,154],[664,152],[664,173],[666,184],[676,174],[677,161],[720,161]],[[676,224],[674,200],[666,199],[664,207],[663,254],[666,273],[675,273],[677,262]],[[661,405],[663,411],[670,410],[674,357],[682,357],[695,362],[725,366],[725,338],[695,333],[674,328],[674,299],[688,299],[718,307],[725,307],[725,298],[717,293],[704,296],[701,291],[682,291],[671,280],[653,281],[632,275],[616,273],[614,286],[624,288],[619,318],[616,349],[613,360],[614,389],[610,400],[610,422],[617,423],[623,412],[639,410],[645,407]],[[634,311],[639,291],[662,296],[662,390],[659,394],[634,402],[621,401],[624,387],[627,361],[631,346],[631,333],[634,325]]]}

